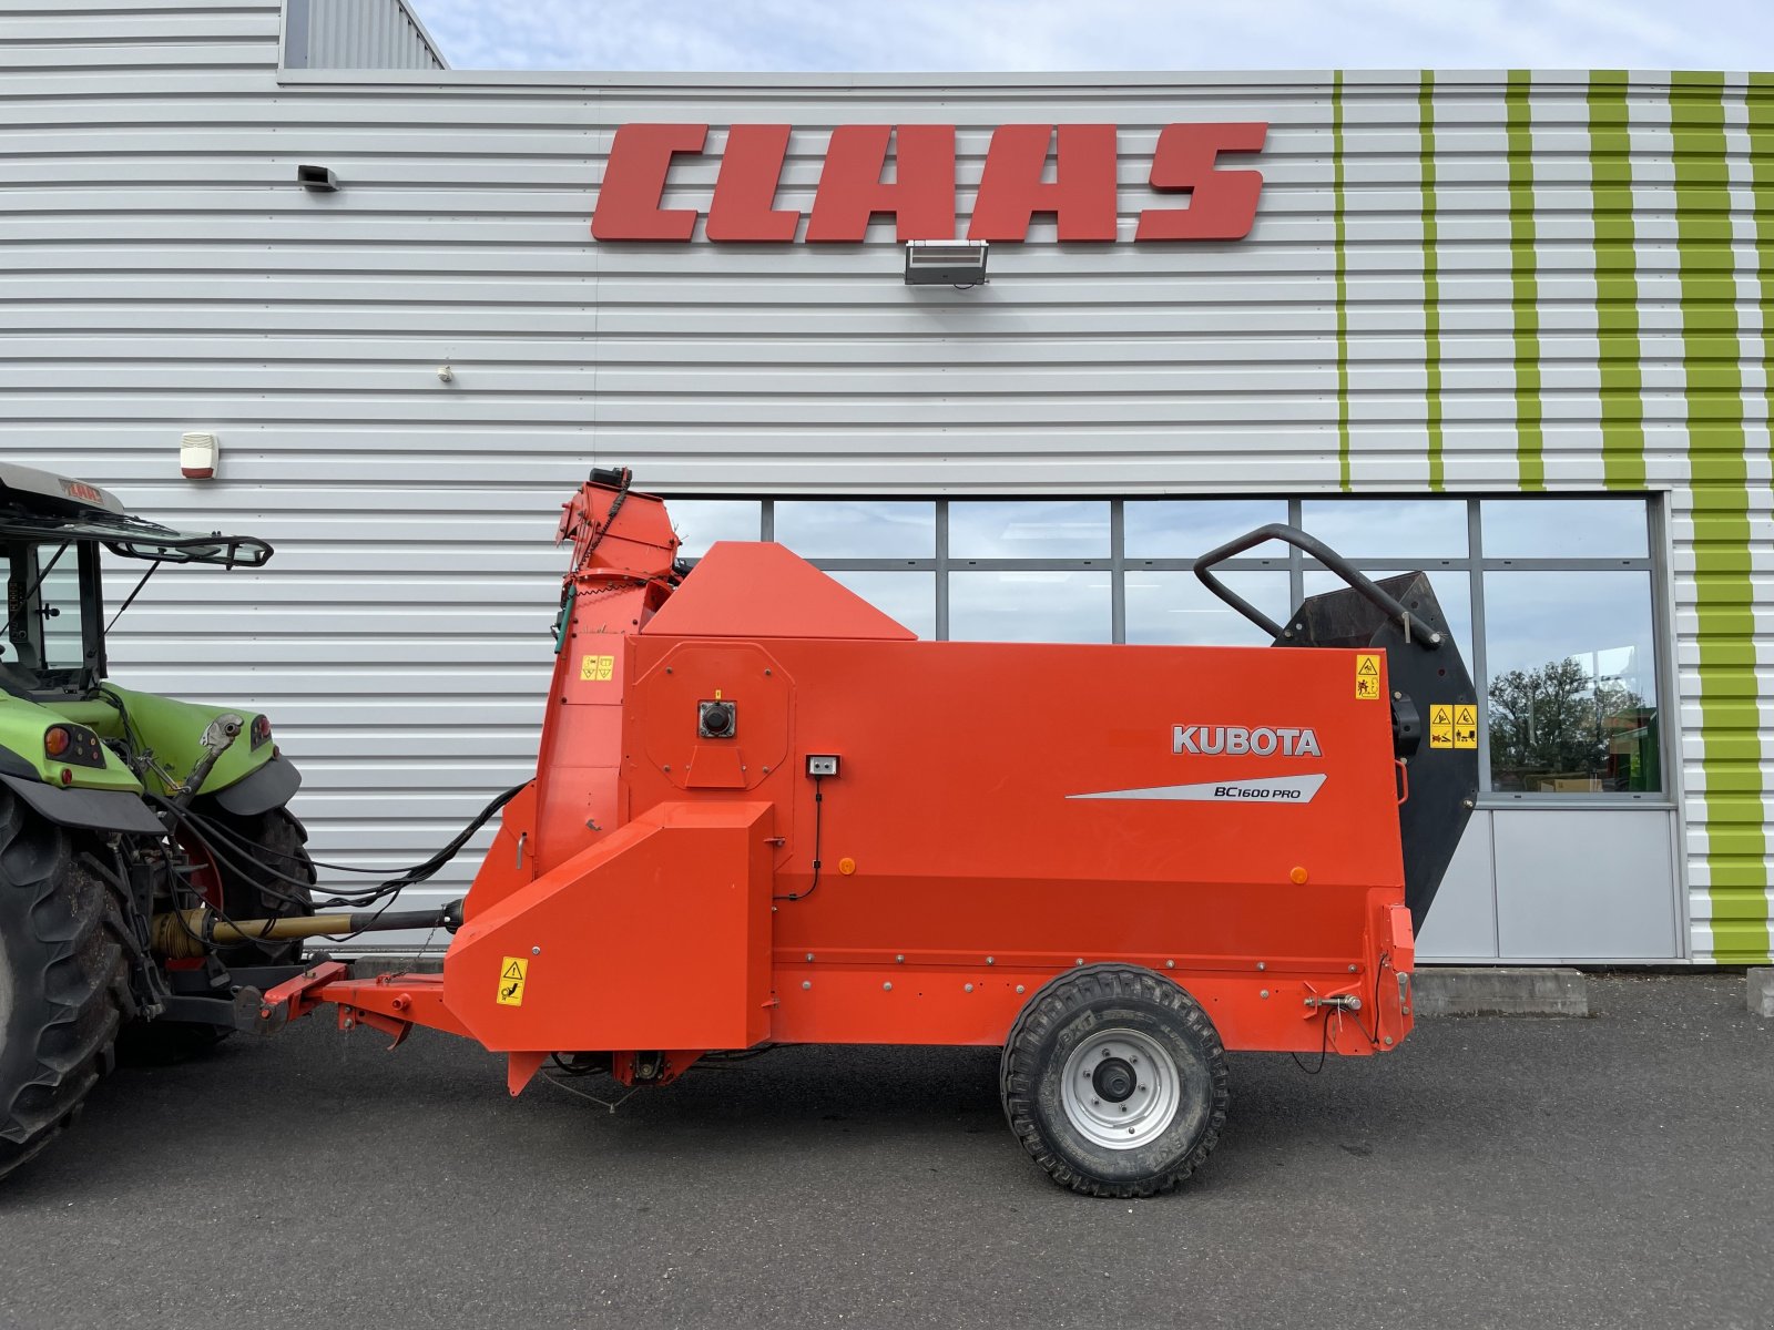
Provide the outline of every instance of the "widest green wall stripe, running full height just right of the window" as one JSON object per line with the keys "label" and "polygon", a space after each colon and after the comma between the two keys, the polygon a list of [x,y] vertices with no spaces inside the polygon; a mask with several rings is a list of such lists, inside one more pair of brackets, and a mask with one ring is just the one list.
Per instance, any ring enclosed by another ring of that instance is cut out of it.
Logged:
{"label": "widest green wall stripe, running full height just right of the window", "polygon": [[1769,956],[1767,837],[1758,766],[1754,589],[1749,576],[1749,466],[1742,337],[1724,158],[1724,78],[1680,74],[1669,87],[1675,140],[1682,367],[1694,489],[1699,621],[1699,739],[1707,773],[1712,959]]}

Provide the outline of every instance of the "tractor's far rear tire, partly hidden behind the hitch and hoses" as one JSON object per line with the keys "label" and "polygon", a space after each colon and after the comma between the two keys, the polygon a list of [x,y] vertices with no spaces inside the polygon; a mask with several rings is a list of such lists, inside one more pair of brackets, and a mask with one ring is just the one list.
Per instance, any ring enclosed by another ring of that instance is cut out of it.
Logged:
{"label": "tractor's far rear tire, partly hidden behind the hitch and hoses", "polygon": [[[236,818],[216,805],[200,805],[209,825],[216,876],[222,883],[222,911],[229,919],[282,919],[314,913],[314,862],[307,851],[307,828],[287,809],[271,809],[252,818]],[[284,876],[277,876],[284,874]],[[298,881],[284,881],[284,878]],[[302,942],[243,942],[216,947],[216,959],[234,968],[243,965],[296,965]],[[135,1021],[119,1041],[126,1062],[163,1066],[199,1057],[234,1034],[232,1025],[195,1021]]]}

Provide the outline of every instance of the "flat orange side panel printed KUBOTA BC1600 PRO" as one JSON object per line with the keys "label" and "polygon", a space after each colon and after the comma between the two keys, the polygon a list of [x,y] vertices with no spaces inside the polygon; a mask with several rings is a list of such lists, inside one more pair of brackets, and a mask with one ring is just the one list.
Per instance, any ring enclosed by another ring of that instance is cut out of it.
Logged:
{"label": "flat orange side panel printed KUBOTA BC1600 PRO", "polygon": [[[775,1039],[997,1043],[1002,975],[1128,959],[1199,997],[1236,977],[1228,1041],[1316,1048],[1300,986],[1348,991],[1391,938],[1368,908],[1403,892],[1384,656],[772,640],[740,669],[729,642],[644,635],[630,677],[637,814],[685,798],[669,759],[718,688],[747,789],[695,796],[777,805],[777,896],[812,888],[818,826],[818,888],[777,903]],[[839,759],[818,809],[812,754]]]}

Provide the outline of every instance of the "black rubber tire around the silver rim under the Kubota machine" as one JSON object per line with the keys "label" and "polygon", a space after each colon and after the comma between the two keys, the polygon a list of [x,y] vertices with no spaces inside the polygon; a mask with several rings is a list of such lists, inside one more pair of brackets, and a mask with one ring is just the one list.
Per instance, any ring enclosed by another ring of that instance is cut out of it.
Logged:
{"label": "black rubber tire around the silver rim under the Kubota machine", "polygon": [[[1073,1167],[1041,1131],[1034,1110],[1041,1062],[1038,1050],[1054,1027],[1080,1007],[1128,1000],[1164,1007],[1197,1044],[1212,1075],[1212,1107],[1201,1138],[1162,1174],[1137,1181],[1105,1181]],[[1011,1025],[999,1064],[1004,1115],[1034,1162],[1056,1183],[1080,1195],[1121,1201],[1174,1192],[1206,1162],[1219,1144],[1221,1128],[1226,1124],[1226,1107],[1231,1101],[1228,1082],[1226,1048],[1201,1004],[1166,975],[1135,965],[1084,965],[1050,979],[1024,1004],[1015,1025]]]}

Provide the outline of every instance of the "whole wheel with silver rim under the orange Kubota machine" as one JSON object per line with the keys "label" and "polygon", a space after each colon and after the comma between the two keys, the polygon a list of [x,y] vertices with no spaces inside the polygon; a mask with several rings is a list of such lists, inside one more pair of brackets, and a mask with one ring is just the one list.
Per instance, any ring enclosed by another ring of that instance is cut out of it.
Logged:
{"label": "whole wheel with silver rim under the orange Kubota machine", "polygon": [[1073,1192],[1150,1197],[1201,1167],[1226,1121],[1226,1050],[1201,1005],[1130,965],[1087,965],[1017,1016],[1001,1064],[1004,1115]]}

